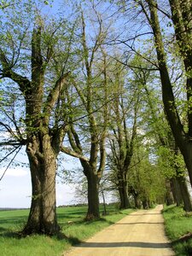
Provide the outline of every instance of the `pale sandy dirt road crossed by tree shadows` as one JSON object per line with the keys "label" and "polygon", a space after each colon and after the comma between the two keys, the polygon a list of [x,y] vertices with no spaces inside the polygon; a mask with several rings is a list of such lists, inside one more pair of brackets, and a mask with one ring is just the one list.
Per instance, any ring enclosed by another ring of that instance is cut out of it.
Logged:
{"label": "pale sandy dirt road crossed by tree shadows", "polygon": [[162,206],[132,212],[118,223],[73,247],[64,256],[172,256],[166,239]]}

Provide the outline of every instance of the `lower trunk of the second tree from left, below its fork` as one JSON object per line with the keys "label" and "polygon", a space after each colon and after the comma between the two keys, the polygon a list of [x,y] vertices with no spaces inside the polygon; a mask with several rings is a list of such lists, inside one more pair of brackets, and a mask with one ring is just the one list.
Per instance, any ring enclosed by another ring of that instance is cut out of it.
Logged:
{"label": "lower trunk of the second tree from left, below its fork", "polygon": [[84,170],[88,183],[88,211],[86,220],[100,218],[99,212],[99,178],[94,168]]}

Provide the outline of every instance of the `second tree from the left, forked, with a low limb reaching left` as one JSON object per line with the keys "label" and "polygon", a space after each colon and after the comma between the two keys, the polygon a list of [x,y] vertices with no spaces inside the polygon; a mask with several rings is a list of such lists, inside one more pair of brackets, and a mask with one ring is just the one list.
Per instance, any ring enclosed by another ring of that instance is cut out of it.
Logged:
{"label": "second tree from the left, forked, with a low limb reaching left", "polygon": [[[102,18],[92,6],[96,15],[98,29],[91,45],[89,35],[86,31],[84,13],[81,11],[81,36],[80,49],[81,72],[77,79],[73,79],[72,85],[76,90],[77,103],[83,106],[83,123],[87,124],[81,138],[80,122],[74,124],[74,114],[69,119],[69,130],[67,131],[70,147],[62,147],[62,152],[77,157],[83,167],[84,175],[88,183],[88,212],[86,219],[100,218],[99,212],[99,181],[105,168],[106,148],[105,141],[108,128],[108,77],[107,77],[107,55],[102,49],[102,44],[106,38],[107,30],[102,25]],[[93,38],[93,35],[90,35]],[[96,55],[100,60],[96,60]],[[97,65],[96,61],[100,64]],[[97,67],[99,66],[99,67]],[[83,74],[82,74],[83,73]],[[82,81],[82,77],[83,81]],[[70,103],[70,94],[68,96],[68,106],[73,112],[73,104]],[[76,118],[76,119],[82,119]],[[84,142],[84,143],[83,143]],[[87,148],[84,147],[84,144]]]}

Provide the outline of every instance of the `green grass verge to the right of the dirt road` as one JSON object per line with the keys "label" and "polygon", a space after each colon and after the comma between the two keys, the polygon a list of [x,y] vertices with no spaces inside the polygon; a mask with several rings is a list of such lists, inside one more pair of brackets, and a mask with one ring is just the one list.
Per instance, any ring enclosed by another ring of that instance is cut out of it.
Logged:
{"label": "green grass verge to the right of the dirt road", "polygon": [[177,256],[192,255],[192,212],[186,213],[182,207],[169,206],[163,211],[166,235],[172,241]]}

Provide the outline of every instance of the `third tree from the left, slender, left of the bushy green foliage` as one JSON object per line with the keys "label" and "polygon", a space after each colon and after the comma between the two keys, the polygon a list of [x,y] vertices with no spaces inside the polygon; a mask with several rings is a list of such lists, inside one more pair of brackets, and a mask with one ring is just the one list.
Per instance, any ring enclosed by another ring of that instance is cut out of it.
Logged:
{"label": "third tree from the left, slender, left of the bushy green foliage", "polygon": [[114,64],[111,77],[114,91],[111,113],[112,131],[109,139],[111,154],[108,155],[108,166],[115,172],[121,209],[130,207],[128,172],[134,152],[134,140],[137,136],[137,113],[140,101],[139,90],[131,90],[131,87],[133,88],[136,84],[131,79],[127,81],[127,73],[128,71],[125,71],[125,67],[119,62]]}

